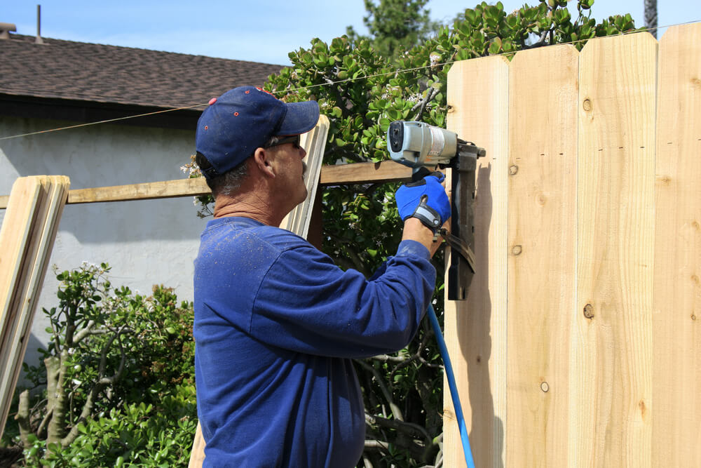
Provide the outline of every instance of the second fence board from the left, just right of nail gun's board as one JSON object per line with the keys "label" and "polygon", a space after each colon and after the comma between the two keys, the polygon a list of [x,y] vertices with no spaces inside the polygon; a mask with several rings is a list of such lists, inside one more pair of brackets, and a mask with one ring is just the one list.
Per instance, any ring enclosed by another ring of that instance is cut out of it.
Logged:
{"label": "second fence board from the left, just right of nail gun's board", "polygon": [[579,53],[551,46],[509,65],[506,458],[566,467],[566,353],[576,305]]}

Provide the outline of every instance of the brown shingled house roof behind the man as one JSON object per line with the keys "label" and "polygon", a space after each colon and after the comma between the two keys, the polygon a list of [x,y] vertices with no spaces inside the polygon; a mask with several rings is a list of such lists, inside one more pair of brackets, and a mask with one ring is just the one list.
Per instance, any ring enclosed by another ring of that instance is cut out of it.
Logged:
{"label": "brown shingled house roof behind the man", "polygon": [[34,36],[11,34],[11,39],[0,40],[0,95],[172,109],[206,104],[236,86],[261,86],[283,68],[42,39],[43,44],[35,44]]}

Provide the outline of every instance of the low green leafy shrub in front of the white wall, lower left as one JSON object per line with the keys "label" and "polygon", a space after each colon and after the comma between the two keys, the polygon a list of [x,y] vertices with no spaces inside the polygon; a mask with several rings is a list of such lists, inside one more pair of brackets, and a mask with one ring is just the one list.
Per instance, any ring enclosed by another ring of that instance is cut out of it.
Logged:
{"label": "low green leafy shrub in front of the white wall, lower left", "polygon": [[[197,424],[193,309],[169,288],[113,288],[109,265],[60,272],[44,366],[15,419],[27,466],[184,465]],[[8,421],[11,426],[13,421]],[[11,428],[11,433],[17,433]]]}

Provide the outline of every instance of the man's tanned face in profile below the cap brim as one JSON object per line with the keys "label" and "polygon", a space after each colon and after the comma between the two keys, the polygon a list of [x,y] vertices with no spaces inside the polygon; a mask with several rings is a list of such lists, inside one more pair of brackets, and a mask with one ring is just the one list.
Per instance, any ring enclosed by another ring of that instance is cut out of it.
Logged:
{"label": "man's tanned face in profile below the cap brim", "polygon": [[275,191],[280,196],[280,203],[290,206],[292,210],[307,197],[304,183],[306,164],[302,161],[306,151],[299,146],[299,135],[297,138],[281,139],[280,143],[268,149],[274,152]]}

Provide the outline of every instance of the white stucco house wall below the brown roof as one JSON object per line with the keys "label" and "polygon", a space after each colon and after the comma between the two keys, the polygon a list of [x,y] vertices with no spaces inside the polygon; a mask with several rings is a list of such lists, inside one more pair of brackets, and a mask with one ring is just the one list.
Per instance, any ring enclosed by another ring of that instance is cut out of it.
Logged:
{"label": "white stucco house wall below the brown roof", "polygon": [[[0,116],[0,137],[70,124]],[[194,131],[113,124],[0,140],[0,194],[9,194],[25,175],[67,175],[71,189],[175,180],[185,177],[180,166],[193,152]],[[46,344],[41,308],[57,305],[53,265],[63,270],[83,261],[109,262],[114,286],[149,295],[151,286],[164,284],[179,300],[192,300],[193,259],[207,221],[196,211],[191,197],[67,205],[25,361],[36,362],[36,348]]]}

